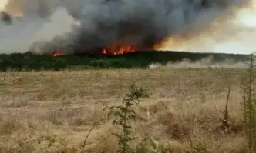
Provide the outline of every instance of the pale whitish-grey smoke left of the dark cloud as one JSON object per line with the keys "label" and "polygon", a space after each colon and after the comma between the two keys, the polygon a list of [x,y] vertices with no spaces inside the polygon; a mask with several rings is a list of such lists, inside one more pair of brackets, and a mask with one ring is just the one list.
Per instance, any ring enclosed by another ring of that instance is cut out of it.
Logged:
{"label": "pale whitish-grey smoke left of the dark cloud", "polygon": [[[22,12],[22,18],[12,18],[12,25],[0,22],[0,53],[28,52],[34,42],[50,41],[56,35],[72,30],[74,19],[57,1],[45,0],[9,1],[6,12],[15,15]],[[46,7],[48,5],[48,7]],[[18,9],[19,8],[19,9]],[[39,47],[39,45],[37,45]]]}

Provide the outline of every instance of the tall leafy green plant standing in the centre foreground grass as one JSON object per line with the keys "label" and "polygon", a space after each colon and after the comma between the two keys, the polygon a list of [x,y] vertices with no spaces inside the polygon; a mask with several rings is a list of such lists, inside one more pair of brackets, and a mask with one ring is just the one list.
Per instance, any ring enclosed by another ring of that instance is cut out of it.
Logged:
{"label": "tall leafy green plant standing in the centre foreground grass", "polygon": [[129,143],[136,139],[132,136],[130,120],[136,120],[136,113],[133,105],[139,105],[141,98],[149,98],[150,92],[136,84],[130,86],[130,92],[123,98],[122,105],[106,107],[109,117],[113,116],[113,125],[120,125],[123,128],[122,133],[113,133],[118,138],[119,153],[134,152]]}

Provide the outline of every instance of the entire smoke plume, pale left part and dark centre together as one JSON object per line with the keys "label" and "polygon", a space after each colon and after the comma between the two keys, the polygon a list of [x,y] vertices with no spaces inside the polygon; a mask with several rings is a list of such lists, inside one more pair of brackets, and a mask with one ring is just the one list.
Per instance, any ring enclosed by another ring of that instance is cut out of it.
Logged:
{"label": "entire smoke plume, pale left part and dark centre together", "polygon": [[[245,0],[9,0],[0,52],[85,52],[119,45],[152,49],[172,35],[200,32]],[[237,7],[237,8],[234,8]]]}

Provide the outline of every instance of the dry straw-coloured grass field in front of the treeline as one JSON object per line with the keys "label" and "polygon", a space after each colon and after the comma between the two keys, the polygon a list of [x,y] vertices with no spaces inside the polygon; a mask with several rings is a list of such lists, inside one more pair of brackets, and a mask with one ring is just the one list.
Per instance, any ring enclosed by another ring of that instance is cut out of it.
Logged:
{"label": "dry straw-coloured grass field in front of the treeline", "polygon": [[[0,73],[0,152],[116,152],[105,105],[120,104],[133,83],[153,95],[140,102],[133,122],[135,147],[143,138],[184,151],[203,142],[213,153],[238,153],[242,131],[244,69],[169,68]],[[227,88],[230,132],[222,128]]]}

